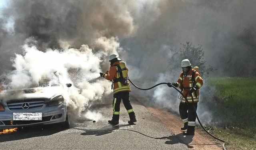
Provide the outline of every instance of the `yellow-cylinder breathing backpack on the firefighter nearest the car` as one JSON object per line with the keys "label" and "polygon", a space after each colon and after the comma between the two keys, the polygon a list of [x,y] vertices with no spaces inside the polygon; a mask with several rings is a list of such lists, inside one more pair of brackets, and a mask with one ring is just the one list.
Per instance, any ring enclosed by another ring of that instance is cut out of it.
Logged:
{"label": "yellow-cylinder breathing backpack on the firefighter nearest the car", "polygon": [[116,64],[114,66],[116,66],[116,72],[118,73],[119,78],[115,78],[113,80],[113,83],[121,82],[124,85],[128,85],[129,84],[129,82],[128,82],[129,78],[128,78],[128,72],[127,72],[125,63],[120,62],[119,65]]}

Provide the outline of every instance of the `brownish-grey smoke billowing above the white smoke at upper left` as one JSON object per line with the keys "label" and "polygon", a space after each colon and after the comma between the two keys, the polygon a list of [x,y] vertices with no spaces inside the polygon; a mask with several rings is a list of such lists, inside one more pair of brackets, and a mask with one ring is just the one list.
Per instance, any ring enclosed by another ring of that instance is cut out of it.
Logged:
{"label": "brownish-grey smoke billowing above the white smoke at upper left", "polygon": [[[129,36],[136,30],[132,16],[125,8],[126,2],[26,0],[6,3],[8,8],[3,9],[1,15],[1,43],[6,42],[0,48],[1,52],[8,52],[6,59],[14,53],[22,53],[19,46],[29,37],[37,41],[41,51],[61,49],[63,43],[68,42],[73,48],[87,44],[97,52],[102,50],[98,38],[103,37],[106,42],[116,37],[114,40],[117,41],[117,37]],[[10,20],[13,20],[13,31],[10,37],[3,37],[4,26]],[[1,61],[1,66],[10,62],[6,59]],[[5,66],[10,68],[11,64]]]}

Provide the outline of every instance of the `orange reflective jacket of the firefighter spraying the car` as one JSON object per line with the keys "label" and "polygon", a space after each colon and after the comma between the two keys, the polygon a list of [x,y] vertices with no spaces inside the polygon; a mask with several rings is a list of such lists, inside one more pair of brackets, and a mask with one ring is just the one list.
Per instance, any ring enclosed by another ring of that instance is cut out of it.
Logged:
{"label": "orange reflective jacket of the firefighter spraying the car", "polygon": [[[114,62],[113,66],[110,67],[108,74],[103,74],[103,77],[107,80],[110,80],[113,82],[113,80],[115,78],[119,78],[120,74],[117,72],[118,67],[114,66],[114,65],[119,65],[120,66],[120,62]],[[128,72],[128,68],[126,67],[126,70]],[[129,81],[128,81],[129,82]],[[124,85],[121,82],[116,82],[114,83],[114,87],[113,87],[113,92],[114,94],[118,93],[118,92],[122,92],[122,91],[131,91],[130,89],[130,84],[128,85]]]}

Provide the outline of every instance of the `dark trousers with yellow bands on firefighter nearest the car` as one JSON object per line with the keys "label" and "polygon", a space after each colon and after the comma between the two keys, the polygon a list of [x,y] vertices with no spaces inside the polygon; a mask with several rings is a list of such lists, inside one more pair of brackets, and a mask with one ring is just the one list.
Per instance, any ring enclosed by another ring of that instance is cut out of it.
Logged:
{"label": "dark trousers with yellow bands on firefighter nearest the car", "polygon": [[119,120],[119,114],[120,114],[120,103],[121,100],[123,100],[124,107],[127,110],[130,119],[135,119],[135,113],[133,111],[132,105],[129,100],[129,92],[118,92],[114,94],[113,99],[113,117],[112,120]]}

